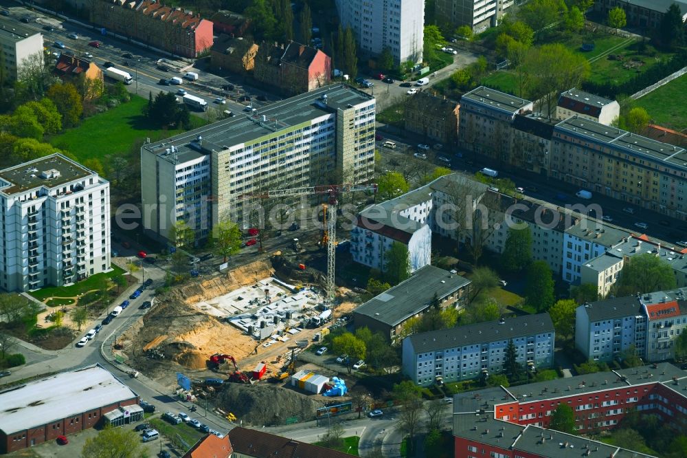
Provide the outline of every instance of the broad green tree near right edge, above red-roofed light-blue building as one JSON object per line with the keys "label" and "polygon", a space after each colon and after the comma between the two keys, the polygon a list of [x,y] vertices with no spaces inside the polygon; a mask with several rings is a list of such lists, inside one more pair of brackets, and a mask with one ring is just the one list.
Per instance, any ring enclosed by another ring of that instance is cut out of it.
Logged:
{"label": "broad green tree near right edge, above red-roofed light-blue building", "polygon": [[677,287],[673,268],[651,253],[632,257],[622,266],[620,278],[613,285],[616,296],[668,291]]}

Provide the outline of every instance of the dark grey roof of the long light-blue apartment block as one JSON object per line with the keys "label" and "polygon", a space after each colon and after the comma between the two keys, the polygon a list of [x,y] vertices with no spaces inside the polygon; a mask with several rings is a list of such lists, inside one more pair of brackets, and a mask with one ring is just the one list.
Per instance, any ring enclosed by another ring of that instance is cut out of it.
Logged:
{"label": "dark grey roof of the long light-blue apartment block", "polygon": [[510,340],[545,332],[554,332],[551,317],[546,313],[506,318],[503,323],[499,320],[486,321],[473,325],[422,332],[409,336],[407,339],[412,342],[416,353],[425,353],[477,343]]}

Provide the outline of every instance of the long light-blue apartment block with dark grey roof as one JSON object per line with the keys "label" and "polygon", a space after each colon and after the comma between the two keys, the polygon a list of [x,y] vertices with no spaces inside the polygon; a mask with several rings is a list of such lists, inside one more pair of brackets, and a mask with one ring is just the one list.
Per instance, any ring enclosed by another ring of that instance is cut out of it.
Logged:
{"label": "long light-blue apartment block with dark grey roof", "polygon": [[403,339],[403,373],[420,386],[499,373],[510,340],[523,367],[551,367],[555,335],[549,314],[423,332]]}

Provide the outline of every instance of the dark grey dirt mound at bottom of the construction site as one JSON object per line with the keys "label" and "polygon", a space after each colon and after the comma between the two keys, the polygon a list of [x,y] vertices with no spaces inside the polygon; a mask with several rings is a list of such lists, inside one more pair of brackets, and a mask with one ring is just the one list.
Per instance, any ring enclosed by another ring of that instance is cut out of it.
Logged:
{"label": "dark grey dirt mound at bottom of the construction site", "polygon": [[321,402],[289,388],[274,386],[225,384],[216,405],[254,426],[284,424],[289,417],[301,421],[313,419]]}

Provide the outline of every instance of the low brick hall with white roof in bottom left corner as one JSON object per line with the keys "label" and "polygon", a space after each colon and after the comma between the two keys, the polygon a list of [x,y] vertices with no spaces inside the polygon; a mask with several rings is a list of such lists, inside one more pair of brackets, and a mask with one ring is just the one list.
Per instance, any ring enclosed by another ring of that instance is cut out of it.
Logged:
{"label": "low brick hall with white roof in bottom left corner", "polygon": [[0,452],[102,426],[106,413],[138,401],[136,393],[100,364],[13,386],[0,391]]}

